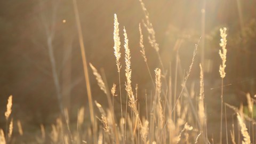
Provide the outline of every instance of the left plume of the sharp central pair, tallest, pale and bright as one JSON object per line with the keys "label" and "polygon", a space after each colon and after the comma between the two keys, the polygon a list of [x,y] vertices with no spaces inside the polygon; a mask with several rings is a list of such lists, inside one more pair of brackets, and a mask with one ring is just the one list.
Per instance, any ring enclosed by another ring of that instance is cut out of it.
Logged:
{"label": "left plume of the sharp central pair, tallest, pale and bright", "polygon": [[121,65],[119,59],[121,58],[121,52],[120,52],[120,37],[119,37],[119,23],[117,21],[117,16],[114,14],[114,54],[116,57],[116,66],[118,73],[120,72]]}

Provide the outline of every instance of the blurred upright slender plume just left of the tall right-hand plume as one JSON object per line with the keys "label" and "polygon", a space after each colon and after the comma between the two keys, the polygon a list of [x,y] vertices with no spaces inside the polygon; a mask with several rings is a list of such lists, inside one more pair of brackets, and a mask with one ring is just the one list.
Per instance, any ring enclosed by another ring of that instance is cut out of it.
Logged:
{"label": "blurred upright slender plume just left of the tall right-hand plume", "polygon": [[201,63],[200,66],[200,96],[198,102],[198,116],[201,123],[202,129],[205,122],[205,111],[204,111],[204,72]]}

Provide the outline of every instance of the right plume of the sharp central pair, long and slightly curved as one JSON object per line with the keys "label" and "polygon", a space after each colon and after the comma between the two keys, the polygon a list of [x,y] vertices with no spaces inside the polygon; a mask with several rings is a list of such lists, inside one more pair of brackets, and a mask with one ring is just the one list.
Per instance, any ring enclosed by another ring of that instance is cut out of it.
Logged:
{"label": "right plume of the sharp central pair, long and slightly curved", "polygon": [[[135,98],[132,92],[132,70],[131,70],[131,52],[128,46],[129,39],[127,38],[127,33],[124,27],[124,49],[125,49],[125,76],[126,76],[126,84],[125,84],[125,90],[128,93],[129,96],[129,106],[132,108],[134,112],[137,111],[136,104],[135,104]],[[138,111],[137,113],[138,114]]]}

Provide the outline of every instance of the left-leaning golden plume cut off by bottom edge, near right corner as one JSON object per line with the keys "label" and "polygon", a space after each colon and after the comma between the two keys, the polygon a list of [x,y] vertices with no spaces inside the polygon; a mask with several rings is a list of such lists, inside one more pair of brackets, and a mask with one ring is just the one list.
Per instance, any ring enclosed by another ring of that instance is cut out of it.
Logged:
{"label": "left-leaning golden plume cut off by bottom edge, near right corner", "polygon": [[242,144],[251,144],[251,139],[250,139],[250,135],[249,133],[247,132],[247,128],[246,128],[246,125],[242,119],[242,117],[239,115],[239,113],[236,113],[237,114],[237,119],[238,119],[238,123],[239,123],[239,126],[241,127],[241,133],[243,135],[243,141],[242,141]]}

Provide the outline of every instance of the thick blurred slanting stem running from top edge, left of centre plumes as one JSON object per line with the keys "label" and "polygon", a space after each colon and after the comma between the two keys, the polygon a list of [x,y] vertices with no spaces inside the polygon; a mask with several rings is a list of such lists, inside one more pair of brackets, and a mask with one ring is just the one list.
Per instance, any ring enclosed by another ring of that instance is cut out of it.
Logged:
{"label": "thick blurred slanting stem running from top edge, left of centre plumes", "polygon": [[97,142],[97,132],[96,132],[96,126],[95,126],[95,122],[94,122],[92,93],[91,93],[89,72],[88,72],[88,68],[87,68],[87,61],[86,61],[86,55],[85,55],[85,47],[84,47],[84,41],[83,41],[81,22],[80,22],[80,18],[79,18],[79,13],[78,13],[78,7],[77,7],[76,0],[73,0],[73,5],[74,5],[74,11],[75,11],[75,18],[76,18],[79,44],[80,44],[81,55],[82,55],[82,60],[83,60],[84,76],[85,76],[87,97],[88,97],[89,109],[90,109],[90,118],[91,118],[91,124],[92,124],[92,127],[93,127],[93,129],[92,129],[92,131],[93,131],[93,142],[96,143]]}

